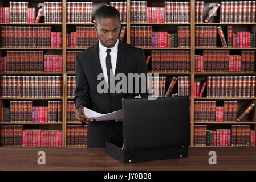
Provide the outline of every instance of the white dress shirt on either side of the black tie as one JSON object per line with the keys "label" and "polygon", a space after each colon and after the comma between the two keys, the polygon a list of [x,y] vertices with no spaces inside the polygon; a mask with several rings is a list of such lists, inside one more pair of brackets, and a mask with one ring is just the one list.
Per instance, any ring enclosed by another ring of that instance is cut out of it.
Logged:
{"label": "white dress shirt on either side of the black tie", "polygon": [[116,44],[113,47],[108,48],[108,47],[103,46],[99,41],[100,65],[101,65],[101,69],[103,71],[105,81],[107,82],[107,86],[108,86],[108,74],[107,74],[107,66],[106,66],[106,57],[107,57],[107,52],[106,51],[107,51],[107,49],[111,49],[109,54],[110,54],[110,57],[111,57],[111,65],[112,65],[113,75],[115,75],[117,53],[118,53],[118,43],[119,43],[119,40],[117,39]]}

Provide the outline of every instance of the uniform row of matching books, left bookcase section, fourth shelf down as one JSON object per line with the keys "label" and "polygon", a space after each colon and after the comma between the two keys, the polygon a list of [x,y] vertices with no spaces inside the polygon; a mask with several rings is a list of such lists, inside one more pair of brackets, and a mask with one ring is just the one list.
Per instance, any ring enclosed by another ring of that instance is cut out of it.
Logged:
{"label": "uniform row of matching books, left bookcase section, fourth shelf down", "polygon": [[0,76],[0,97],[62,97],[62,76]]}

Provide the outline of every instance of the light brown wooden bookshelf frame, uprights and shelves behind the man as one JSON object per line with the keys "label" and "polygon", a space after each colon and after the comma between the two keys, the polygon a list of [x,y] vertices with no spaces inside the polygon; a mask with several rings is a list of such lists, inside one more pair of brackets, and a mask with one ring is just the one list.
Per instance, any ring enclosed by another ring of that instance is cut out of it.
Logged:
{"label": "light brown wooden bookshelf frame, uprights and shelves behind the man", "polygon": [[[7,50],[43,50],[46,52],[49,52],[51,54],[54,54],[60,52],[63,55],[63,72],[10,72],[10,73],[0,73],[0,75],[62,75],[62,80],[63,80],[63,86],[62,86],[62,97],[46,97],[46,98],[41,98],[41,97],[36,97],[36,98],[28,98],[28,97],[0,97],[0,107],[4,107],[5,103],[8,100],[32,100],[32,101],[47,101],[47,100],[62,100],[62,106],[63,106],[63,113],[62,113],[62,118],[63,122],[61,123],[0,123],[0,125],[27,125],[27,126],[35,126],[34,129],[40,129],[38,125],[40,126],[51,126],[51,125],[56,125],[56,126],[61,126],[62,129],[62,146],[66,148],[77,148],[77,147],[67,147],[66,146],[66,129],[67,125],[80,125],[80,122],[67,122],[67,100],[73,100],[74,97],[67,97],[67,76],[75,75],[75,72],[67,72],[67,64],[66,64],[66,51],[70,50],[80,50],[83,51],[84,49],[88,47],[66,47],[66,34],[70,32],[70,30],[74,30],[76,26],[93,26],[94,23],[67,23],[66,22],[66,6],[67,2],[66,0],[57,0],[58,2],[62,2],[62,23],[0,23],[1,26],[51,26],[51,30],[61,30],[63,32],[62,34],[62,48],[2,48],[0,47],[0,57],[5,56],[5,53]],[[177,0],[181,1],[181,0]],[[127,0],[127,22],[122,23],[122,25],[127,27],[127,32],[126,32],[126,42],[131,43],[131,26],[153,26],[153,27],[160,27],[162,28],[161,30],[165,30],[168,28],[172,28],[174,26],[190,26],[191,27],[191,44],[189,48],[182,48],[182,47],[172,47],[172,48],[155,48],[155,47],[150,47],[150,48],[145,48],[145,47],[140,47],[145,50],[145,53],[149,55],[149,52],[151,50],[190,50],[191,55],[190,55],[190,71],[189,72],[152,72],[149,69],[148,73],[159,73],[159,75],[166,75],[166,78],[171,78],[173,76],[190,76],[191,77],[191,88],[190,88],[190,106],[191,106],[191,115],[190,115],[190,147],[232,147],[232,146],[194,146],[194,126],[195,125],[200,125],[200,124],[205,124],[205,125],[240,125],[240,124],[247,124],[252,127],[252,129],[256,129],[256,111],[252,111],[253,115],[252,116],[252,121],[246,120],[245,122],[194,122],[194,101],[196,100],[218,100],[218,101],[224,101],[224,100],[238,100],[238,102],[256,102],[256,97],[245,97],[245,98],[238,98],[238,97],[225,97],[225,98],[205,98],[205,97],[194,97],[194,82],[196,82],[198,77],[207,77],[208,75],[214,75],[214,76],[226,76],[226,75],[231,75],[231,76],[242,76],[242,75],[256,75],[256,72],[254,71],[253,73],[245,72],[195,72],[195,65],[194,65],[194,57],[196,55],[196,52],[202,51],[204,49],[209,49],[209,50],[230,50],[230,51],[239,51],[239,50],[256,50],[256,48],[233,48],[233,47],[195,47],[195,26],[235,26],[237,30],[250,30],[251,32],[256,32],[256,23],[218,23],[217,18],[214,17],[213,19],[210,20],[209,23],[196,23],[195,22],[195,1],[196,0],[190,0],[190,23],[132,23],[131,22],[131,0]],[[224,0],[226,1],[226,0]],[[33,0],[30,1],[29,7],[36,7],[37,3],[42,2],[39,0]],[[47,1],[51,2],[51,1]],[[71,1],[72,2],[72,1]],[[92,1],[96,6],[103,5],[104,3],[108,3],[110,1],[104,1],[104,0],[96,0]],[[205,0],[207,4],[209,3],[216,3],[216,1],[213,0]],[[220,3],[220,1],[217,1]],[[9,7],[8,6],[9,1],[1,1],[0,2],[0,7]],[[164,0],[160,1],[148,1],[148,7],[164,7]],[[94,5],[93,5],[94,6]],[[206,15],[206,11],[204,12],[204,16]],[[218,11],[217,11],[218,14]],[[217,40],[218,41],[218,40]],[[149,62],[149,64],[151,61]],[[166,85],[167,87],[168,85]],[[86,148],[86,147],[79,147],[79,148]]]}

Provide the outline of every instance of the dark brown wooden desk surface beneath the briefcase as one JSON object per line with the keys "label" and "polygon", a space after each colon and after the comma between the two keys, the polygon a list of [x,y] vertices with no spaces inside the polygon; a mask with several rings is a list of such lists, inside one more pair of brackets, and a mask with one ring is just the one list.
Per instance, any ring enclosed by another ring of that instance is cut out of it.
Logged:
{"label": "dark brown wooden desk surface beneath the briefcase", "polygon": [[[38,151],[46,165],[38,165]],[[216,151],[217,165],[210,165],[209,151]],[[188,158],[121,163],[105,148],[0,148],[0,170],[256,170],[256,147],[189,148]]]}

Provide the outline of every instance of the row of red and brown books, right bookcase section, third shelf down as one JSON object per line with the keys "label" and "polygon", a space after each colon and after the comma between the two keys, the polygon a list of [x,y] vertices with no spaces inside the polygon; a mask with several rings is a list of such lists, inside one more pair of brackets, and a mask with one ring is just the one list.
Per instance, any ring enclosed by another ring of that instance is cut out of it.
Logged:
{"label": "row of red and brown books, right bookcase section, third shelf down", "polygon": [[255,51],[240,51],[241,55],[230,55],[229,50],[204,50],[195,55],[196,72],[254,72]]}

